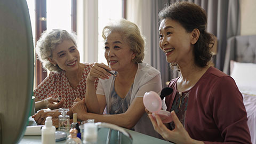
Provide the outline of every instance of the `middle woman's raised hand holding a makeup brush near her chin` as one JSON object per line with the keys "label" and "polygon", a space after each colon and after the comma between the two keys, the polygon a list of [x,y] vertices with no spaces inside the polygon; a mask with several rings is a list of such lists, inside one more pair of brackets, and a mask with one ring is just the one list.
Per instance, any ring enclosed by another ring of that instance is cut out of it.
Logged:
{"label": "middle woman's raised hand holding a makeup brush near her chin", "polygon": [[111,74],[109,74],[107,70],[111,71],[112,69],[104,63],[95,62],[92,65],[89,75],[87,75],[86,81],[94,82],[96,78],[108,79]]}

